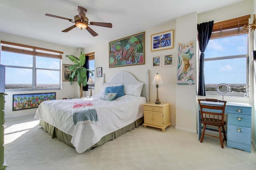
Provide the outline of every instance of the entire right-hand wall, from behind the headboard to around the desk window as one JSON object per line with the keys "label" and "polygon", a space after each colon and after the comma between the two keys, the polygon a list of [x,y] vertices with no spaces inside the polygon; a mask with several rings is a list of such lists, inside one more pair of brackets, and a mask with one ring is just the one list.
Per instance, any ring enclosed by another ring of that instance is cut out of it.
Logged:
{"label": "entire right-hand wall, from behind the headboard to around the desk window", "polygon": [[[220,8],[218,10],[213,10],[206,12],[204,14],[198,14],[196,12],[176,18],[176,20],[171,20],[167,23],[163,23],[158,27],[149,28],[145,31],[145,64],[136,66],[124,66],[117,68],[108,68],[108,42],[102,42],[100,45],[86,47],[85,53],[95,52],[95,68],[102,67],[102,72],[106,74],[106,81],[108,82],[114,74],[120,71],[128,71],[136,76],[136,78],[142,82],[146,81],[146,71],[150,70],[150,101],[156,100],[156,88],[151,84],[154,74],[158,72],[164,81],[164,84],[160,84],[159,87],[159,98],[160,102],[170,102],[171,104],[171,123],[176,125],[176,129],[181,129],[184,131],[190,131],[196,133],[196,123],[197,123],[197,62],[195,61],[195,84],[193,85],[178,85],[176,84],[176,72],[177,63],[176,61],[174,67],[161,67],[152,68],[152,57],[156,55],[163,55],[168,53],[174,53],[177,57],[177,43],[188,43],[190,40],[195,41],[195,58],[198,60],[198,54],[196,53],[196,40],[197,31],[196,24],[206,21],[222,21],[230,18],[235,18],[238,16],[243,16],[253,12],[252,10],[252,0],[247,0],[232,6]],[[167,31],[174,29],[174,49],[162,50],[162,51],[150,51],[150,39],[151,35],[155,33],[160,33],[162,31]],[[135,34],[135,33],[134,33]],[[123,38],[123,37],[120,37]],[[111,41],[114,41],[111,40]],[[250,70],[251,71],[251,70]],[[252,82],[252,81],[251,81]],[[95,77],[95,90],[94,93],[100,92],[102,88],[103,78]],[[251,86],[252,87],[252,86]],[[251,88],[252,91],[252,88]],[[252,94],[250,94],[252,96]],[[222,99],[222,97],[216,97]],[[244,102],[250,103],[250,98],[228,98],[229,102]]]}

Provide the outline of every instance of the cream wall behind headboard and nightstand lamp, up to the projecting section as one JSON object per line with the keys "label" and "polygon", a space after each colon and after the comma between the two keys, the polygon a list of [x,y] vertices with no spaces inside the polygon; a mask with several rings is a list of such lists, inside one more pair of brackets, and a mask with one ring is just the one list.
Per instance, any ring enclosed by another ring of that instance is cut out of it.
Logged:
{"label": "cream wall behind headboard and nightstand lamp, up to the projecting section", "polygon": [[[162,51],[154,51],[151,52],[151,35],[160,33],[163,31],[168,31],[174,29],[174,49],[167,49]],[[143,31],[141,31],[143,32]],[[135,34],[135,33],[134,33]],[[163,84],[160,84],[158,88],[159,91],[159,99],[160,102],[169,102],[170,106],[170,113],[171,113],[171,123],[175,125],[176,117],[175,117],[175,109],[176,109],[176,63],[173,67],[161,67],[161,68],[153,68],[152,67],[152,57],[158,55],[166,55],[166,54],[176,54],[177,43],[176,43],[176,21],[168,21],[159,25],[158,27],[154,27],[151,29],[145,30],[145,64],[142,65],[135,65],[135,66],[122,66],[116,68],[108,68],[108,60],[109,60],[109,52],[108,52],[108,42],[103,42],[100,45],[87,47],[85,48],[86,53],[95,52],[95,68],[102,67],[102,73],[105,73],[105,82],[110,81],[112,76],[120,71],[127,71],[135,75],[135,77],[142,82],[146,82],[146,74],[147,70],[150,70],[150,101],[154,102],[156,100],[156,88],[155,85],[152,84],[154,79],[154,75],[159,73],[163,79]],[[123,37],[120,37],[123,38]],[[111,41],[114,41],[111,40]],[[174,61],[176,62],[176,61]],[[102,88],[103,77],[95,77],[95,92],[100,92]]]}

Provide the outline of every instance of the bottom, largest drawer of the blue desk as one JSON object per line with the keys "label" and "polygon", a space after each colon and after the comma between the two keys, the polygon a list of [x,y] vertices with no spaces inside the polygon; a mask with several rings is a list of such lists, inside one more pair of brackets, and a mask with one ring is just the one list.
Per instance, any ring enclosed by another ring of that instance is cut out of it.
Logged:
{"label": "bottom, largest drawer of the blue desk", "polygon": [[[240,131],[239,131],[240,130]],[[228,141],[251,144],[251,128],[236,125],[228,125]]]}

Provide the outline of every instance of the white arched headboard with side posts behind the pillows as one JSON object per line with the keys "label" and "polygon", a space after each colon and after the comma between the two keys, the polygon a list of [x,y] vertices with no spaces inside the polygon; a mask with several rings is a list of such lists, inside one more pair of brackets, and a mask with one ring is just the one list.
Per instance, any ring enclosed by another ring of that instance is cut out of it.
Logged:
{"label": "white arched headboard with side posts behind the pillows", "polygon": [[[103,74],[103,82],[105,83],[105,74]],[[130,72],[118,72],[115,74],[112,79],[107,82],[107,84],[138,84],[143,83],[142,91],[140,96],[146,98],[147,102],[149,101],[149,70],[146,72],[146,82],[138,81]]]}

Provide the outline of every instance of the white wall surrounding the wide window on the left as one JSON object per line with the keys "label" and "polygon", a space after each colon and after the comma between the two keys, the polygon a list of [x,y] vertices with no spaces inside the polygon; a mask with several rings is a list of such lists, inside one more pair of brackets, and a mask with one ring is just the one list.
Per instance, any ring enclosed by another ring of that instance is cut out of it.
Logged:
{"label": "white wall surrounding the wide window on the left", "polygon": [[[73,64],[70,59],[66,57],[66,55],[78,55],[78,50],[70,47],[65,47],[58,44],[53,44],[45,41],[39,41],[36,39],[30,39],[27,37],[21,37],[18,35],[8,34],[0,32],[0,41],[8,41],[12,43],[19,43],[24,45],[31,45],[34,47],[41,47],[45,49],[52,49],[56,51],[62,51],[62,63],[63,64]],[[62,69],[62,65],[61,65]],[[61,75],[62,76],[62,75]],[[15,78],[15,77],[14,77]],[[62,77],[61,77],[62,80]],[[12,95],[13,94],[32,94],[32,93],[46,93],[46,92],[56,92],[56,99],[62,98],[77,98],[78,97],[78,85],[77,82],[73,82],[72,86],[70,82],[61,82],[62,90],[40,90],[40,91],[22,91],[22,92],[7,92],[8,96],[5,96],[6,104],[5,104],[5,117],[16,117],[21,115],[28,115],[36,113],[36,108],[34,109],[25,109],[20,111],[12,111]]]}

